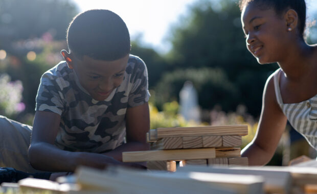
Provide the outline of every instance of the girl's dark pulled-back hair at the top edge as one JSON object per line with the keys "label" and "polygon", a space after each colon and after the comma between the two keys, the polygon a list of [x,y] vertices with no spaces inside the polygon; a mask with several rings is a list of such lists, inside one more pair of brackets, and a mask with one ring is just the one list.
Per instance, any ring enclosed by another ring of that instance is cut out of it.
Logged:
{"label": "girl's dark pulled-back hair at the top edge", "polygon": [[293,9],[299,17],[299,31],[303,36],[306,25],[306,3],[305,0],[240,0],[240,10],[248,4],[254,3],[259,9],[274,8],[278,15],[282,15],[287,9]]}

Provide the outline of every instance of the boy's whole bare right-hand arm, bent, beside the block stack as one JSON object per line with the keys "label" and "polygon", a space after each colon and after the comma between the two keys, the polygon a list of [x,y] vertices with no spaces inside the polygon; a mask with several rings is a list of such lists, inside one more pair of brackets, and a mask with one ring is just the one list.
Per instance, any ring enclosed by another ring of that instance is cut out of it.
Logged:
{"label": "boy's whole bare right-hand arm, bent, beside the block stack", "polygon": [[150,149],[146,142],[146,133],[150,129],[149,104],[127,108],[126,132],[127,143],[122,144],[115,150],[104,153],[116,160],[122,161],[122,152],[144,151]]}

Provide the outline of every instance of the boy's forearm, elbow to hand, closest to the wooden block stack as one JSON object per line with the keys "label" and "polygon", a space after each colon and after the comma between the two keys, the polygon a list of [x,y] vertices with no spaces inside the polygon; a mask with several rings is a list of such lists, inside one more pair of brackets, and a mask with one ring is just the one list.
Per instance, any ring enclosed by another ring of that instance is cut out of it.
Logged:
{"label": "boy's forearm, elbow to hand, closest to the wooden block stack", "polygon": [[118,161],[122,161],[122,152],[133,152],[133,151],[146,151],[150,150],[150,144],[146,142],[127,142],[116,148],[115,150],[103,153],[106,156],[110,156]]}

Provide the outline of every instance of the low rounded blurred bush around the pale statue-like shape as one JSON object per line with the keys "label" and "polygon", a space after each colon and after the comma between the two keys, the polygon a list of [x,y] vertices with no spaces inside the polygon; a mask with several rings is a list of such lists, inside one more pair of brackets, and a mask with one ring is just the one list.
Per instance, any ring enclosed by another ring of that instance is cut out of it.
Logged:
{"label": "low rounded blurred bush around the pale statue-like shape", "polygon": [[161,108],[166,101],[178,101],[178,93],[186,81],[193,83],[199,105],[205,109],[221,104],[228,111],[239,99],[239,91],[220,68],[188,68],[164,74],[155,89],[156,105]]}

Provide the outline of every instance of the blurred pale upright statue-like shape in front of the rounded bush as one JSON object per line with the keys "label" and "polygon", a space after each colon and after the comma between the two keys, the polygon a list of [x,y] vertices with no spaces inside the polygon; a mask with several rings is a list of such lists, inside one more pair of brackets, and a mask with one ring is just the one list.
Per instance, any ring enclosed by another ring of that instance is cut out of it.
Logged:
{"label": "blurred pale upright statue-like shape in front of the rounded bush", "polygon": [[197,91],[193,83],[186,81],[179,92],[179,113],[187,120],[194,120],[200,123]]}

